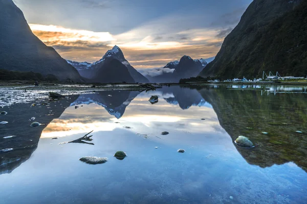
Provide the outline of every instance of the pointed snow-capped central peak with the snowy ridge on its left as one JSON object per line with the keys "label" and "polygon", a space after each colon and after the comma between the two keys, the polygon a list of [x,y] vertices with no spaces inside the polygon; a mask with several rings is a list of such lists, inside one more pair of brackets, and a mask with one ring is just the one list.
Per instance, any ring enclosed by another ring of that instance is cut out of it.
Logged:
{"label": "pointed snow-capped central peak with the snowy ridge on its left", "polygon": [[130,65],[122,50],[116,45],[109,49],[97,62],[74,62],[70,60],[67,60],[67,62],[73,65],[82,77],[89,79],[91,82],[149,83],[146,77]]}

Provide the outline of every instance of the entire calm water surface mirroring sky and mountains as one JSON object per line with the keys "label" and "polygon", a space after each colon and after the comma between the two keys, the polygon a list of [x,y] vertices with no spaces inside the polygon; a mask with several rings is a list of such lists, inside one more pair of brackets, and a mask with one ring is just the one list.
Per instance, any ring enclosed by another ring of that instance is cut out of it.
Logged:
{"label": "entire calm water surface mirroring sky and mountains", "polygon": [[[307,203],[306,90],[268,88],[102,91],[4,107],[0,203]],[[94,145],[59,144],[92,130]],[[237,147],[239,135],[256,147]],[[118,150],[128,156],[117,160]]]}

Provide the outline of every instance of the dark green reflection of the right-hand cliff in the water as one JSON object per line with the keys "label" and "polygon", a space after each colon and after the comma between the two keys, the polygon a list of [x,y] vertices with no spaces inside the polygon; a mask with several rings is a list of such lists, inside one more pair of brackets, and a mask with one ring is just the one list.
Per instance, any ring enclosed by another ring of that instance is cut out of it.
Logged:
{"label": "dark green reflection of the right-hand cliff in the water", "polygon": [[[260,91],[202,89],[221,126],[235,140],[249,137],[257,146],[242,149],[245,160],[260,167],[294,162],[307,171],[307,95],[262,95]],[[268,135],[262,132],[269,133]]]}

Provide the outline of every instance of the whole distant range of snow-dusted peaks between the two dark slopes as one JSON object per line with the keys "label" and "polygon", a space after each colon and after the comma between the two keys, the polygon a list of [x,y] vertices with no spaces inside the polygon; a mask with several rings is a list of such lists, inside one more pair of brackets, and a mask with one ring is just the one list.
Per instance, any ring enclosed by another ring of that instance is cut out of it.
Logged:
{"label": "whole distant range of snow-dusted peaks between the two dark slopes", "polygon": [[[122,65],[112,62],[116,60],[121,62]],[[122,50],[118,46],[114,46],[108,50],[106,54],[94,63],[89,62],[75,62],[67,60],[73,65],[80,73],[80,75],[91,82],[110,83],[110,82],[127,82],[127,83],[176,83],[182,78],[196,77],[207,66],[204,59],[193,60],[189,56],[183,56],[180,61],[169,62],[164,68],[173,69],[173,73],[164,73],[157,77],[144,77],[138,72],[130,63],[125,59]],[[117,65],[117,66],[115,66]],[[126,67],[126,68],[125,68]],[[127,73],[128,71],[128,73]],[[131,80],[132,78],[132,80]]]}

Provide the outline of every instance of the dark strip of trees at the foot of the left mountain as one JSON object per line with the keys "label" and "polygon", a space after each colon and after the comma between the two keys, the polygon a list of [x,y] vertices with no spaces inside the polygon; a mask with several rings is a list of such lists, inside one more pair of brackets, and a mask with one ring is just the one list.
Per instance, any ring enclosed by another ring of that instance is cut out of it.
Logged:
{"label": "dark strip of trees at the foot of the left mountain", "polygon": [[45,81],[45,82],[57,82],[58,79],[55,75],[47,74],[42,75],[41,73],[35,73],[32,71],[9,71],[6,69],[0,69],[0,81]]}

